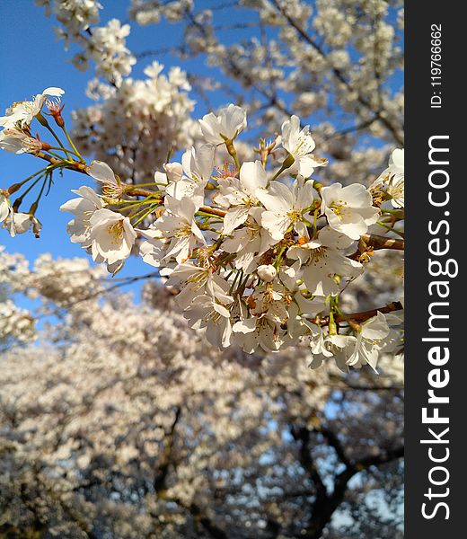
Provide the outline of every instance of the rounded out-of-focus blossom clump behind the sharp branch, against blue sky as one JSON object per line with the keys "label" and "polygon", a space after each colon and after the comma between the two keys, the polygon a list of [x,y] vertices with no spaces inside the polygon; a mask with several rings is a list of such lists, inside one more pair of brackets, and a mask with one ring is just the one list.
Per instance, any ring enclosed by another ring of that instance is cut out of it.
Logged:
{"label": "rounded out-of-focus blossom clump behind the sharp branch, against blue sky", "polygon": [[192,143],[194,102],[187,76],[178,67],[162,72],[154,62],[143,80],[126,78],[117,88],[94,81],[88,93],[96,103],[72,114],[72,136],[82,153],[136,183],[151,181],[151,171],[171,149]]}

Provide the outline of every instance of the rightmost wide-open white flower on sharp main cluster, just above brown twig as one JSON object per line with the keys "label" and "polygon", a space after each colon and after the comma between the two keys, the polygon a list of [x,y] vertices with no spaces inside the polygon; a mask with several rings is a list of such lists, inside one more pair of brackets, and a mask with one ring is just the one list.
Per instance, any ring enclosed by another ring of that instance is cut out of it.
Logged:
{"label": "rightmost wide-open white flower on sharp main cluster, just above brown twig", "polygon": [[358,240],[369,225],[378,220],[379,209],[373,207],[371,193],[359,183],[342,187],[333,183],[323,187],[322,209],[331,228]]}

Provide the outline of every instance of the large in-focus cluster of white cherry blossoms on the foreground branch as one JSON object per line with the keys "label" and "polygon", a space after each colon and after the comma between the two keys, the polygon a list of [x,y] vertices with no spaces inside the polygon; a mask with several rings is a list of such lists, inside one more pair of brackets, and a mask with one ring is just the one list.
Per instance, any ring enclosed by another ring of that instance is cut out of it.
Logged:
{"label": "large in-focus cluster of white cherry blossoms on the foreground branch", "polygon": [[[276,140],[262,141],[260,159],[242,164],[234,140],[246,128],[244,110],[231,104],[199,125],[203,144],[155,172],[154,190],[143,200],[124,200],[128,188],[109,165],[94,161],[87,171],[101,182],[102,196],[82,187],[62,207],[75,215],[72,242],[115,272],[141,236],[143,260],[177,290],[189,325],[220,348],[278,351],[305,339],[313,365],[333,357],[342,369],[375,367],[381,350],[400,344],[398,334],[381,312],[362,324],[347,321],[339,293],[364,271],[349,255],[381,216],[374,198],[392,199],[391,190],[377,185],[391,183],[393,174],[383,172],[373,190],[322,186],[312,175],[327,160],[313,154],[310,130],[296,116]],[[217,146],[234,161],[220,170]],[[278,146],[286,159],[269,170]],[[149,215],[157,217],[153,225],[139,228]]]}

